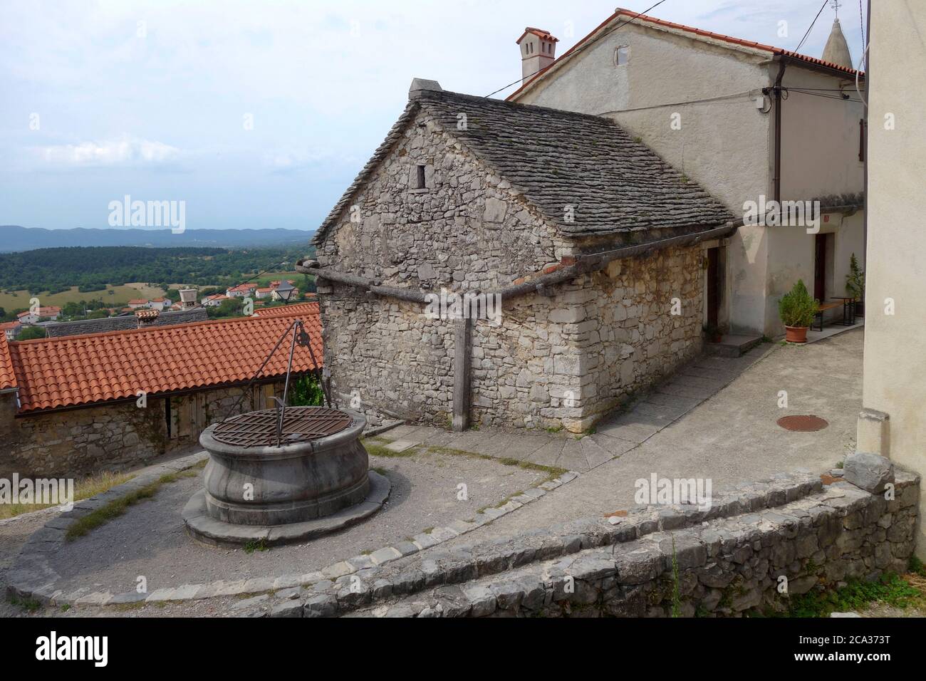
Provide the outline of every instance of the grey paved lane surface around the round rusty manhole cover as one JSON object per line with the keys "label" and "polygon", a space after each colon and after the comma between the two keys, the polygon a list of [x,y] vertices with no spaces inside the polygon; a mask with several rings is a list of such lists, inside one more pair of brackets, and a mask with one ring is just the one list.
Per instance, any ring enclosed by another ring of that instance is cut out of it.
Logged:
{"label": "grey paved lane surface around the round rusty manhole cover", "polygon": [[[812,346],[774,346],[768,356],[680,420],[583,473],[568,493],[547,495],[530,513],[507,516],[467,541],[502,539],[571,518],[630,508],[635,504],[635,481],[653,473],[669,479],[710,479],[717,495],[776,473],[832,469],[855,448],[863,341],[863,332],[856,330]],[[707,363],[729,361],[710,358]],[[781,390],[788,393],[787,409],[778,407]],[[661,400],[659,395],[646,399]],[[782,416],[796,414],[820,416],[829,426],[816,433],[790,433],[777,425]],[[609,437],[599,431],[582,442],[604,442],[607,447]],[[452,541],[447,548],[456,544]]]}

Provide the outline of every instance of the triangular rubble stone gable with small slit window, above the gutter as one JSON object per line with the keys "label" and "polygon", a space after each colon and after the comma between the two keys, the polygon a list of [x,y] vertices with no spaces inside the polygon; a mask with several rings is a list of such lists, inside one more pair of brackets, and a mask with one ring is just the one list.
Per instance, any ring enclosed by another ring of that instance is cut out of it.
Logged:
{"label": "triangular rubble stone gable with small slit window, above the gutter", "polygon": [[[415,188],[419,165],[426,189]],[[384,285],[488,290],[569,253],[507,181],[419,114],[317,258]]]}

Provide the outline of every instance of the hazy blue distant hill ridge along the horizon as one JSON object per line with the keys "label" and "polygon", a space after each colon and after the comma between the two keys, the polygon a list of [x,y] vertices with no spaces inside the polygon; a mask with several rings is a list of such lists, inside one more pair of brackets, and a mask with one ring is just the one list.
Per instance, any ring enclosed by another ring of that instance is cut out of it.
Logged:
{"label": "hazy blue distant hill ridge along the horizon", "polygon": [[41,227],[0,225],[0,253],[61,246],[151,246],[157,248],[253,248],[308,246],[315,235],[303,230],[166,230],[87,229],[46,230]]}

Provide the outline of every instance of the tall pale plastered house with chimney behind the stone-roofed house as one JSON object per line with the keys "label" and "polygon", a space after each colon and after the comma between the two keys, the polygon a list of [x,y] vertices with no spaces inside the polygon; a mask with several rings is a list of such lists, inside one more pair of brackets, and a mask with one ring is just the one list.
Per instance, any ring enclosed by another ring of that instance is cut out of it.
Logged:
{"label": "tall pale plastered house with chimney behind the stone-roofed house", "polygon": [[[853,255],[865,270],[865,81],[838,20],[822,58],[627,9],[559,58],[548,32],[528,29],[518,44],[524,82],[509,101],[614,120],[738,218],[784,203],[780,220],[747,223],[710,260],[710,323],[783,334],[778,301],[798,279],[823,303],[848,296]],[[808,225],[816,200],[820,221]]]}

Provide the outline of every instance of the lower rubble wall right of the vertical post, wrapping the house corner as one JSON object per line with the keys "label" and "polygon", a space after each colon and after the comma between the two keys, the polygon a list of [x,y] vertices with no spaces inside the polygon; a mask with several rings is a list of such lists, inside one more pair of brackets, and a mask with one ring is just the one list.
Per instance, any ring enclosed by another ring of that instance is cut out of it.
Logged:
{"label": "lower rubble wall right of the vertical post, wrapping the house corner", "polygon": [[509,301],[500,325],[479,322],[473,420],[581,433],[694,358],[702,347],[700,258],[691,246],[615,261],[553,296]]}

